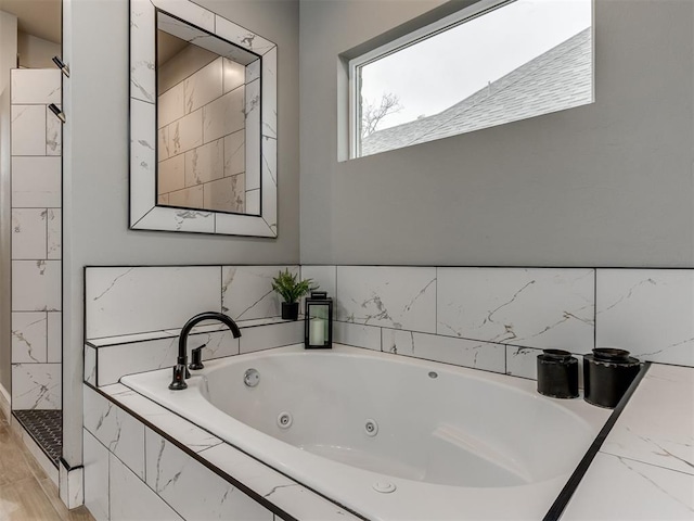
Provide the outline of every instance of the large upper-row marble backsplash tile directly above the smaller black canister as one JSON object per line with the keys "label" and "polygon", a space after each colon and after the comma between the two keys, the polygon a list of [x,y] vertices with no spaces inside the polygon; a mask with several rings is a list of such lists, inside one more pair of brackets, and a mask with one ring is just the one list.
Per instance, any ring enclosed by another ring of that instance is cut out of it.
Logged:
{"label": "large upper-row marble backsplash tile directly above the smaller black canister", "polygon": [[589,353],[592,269],[437,268],[437,333]]}

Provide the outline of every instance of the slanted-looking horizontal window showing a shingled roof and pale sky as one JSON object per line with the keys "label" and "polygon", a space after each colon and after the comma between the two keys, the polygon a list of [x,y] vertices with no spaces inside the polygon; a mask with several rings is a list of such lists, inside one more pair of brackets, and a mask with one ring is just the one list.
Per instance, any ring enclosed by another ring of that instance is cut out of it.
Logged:
{"label": "slanted-looking horizontal window showing a shingled roof and pale sky", "polygon": [[350,157],[593,101],[592,0],[476,2],[349,61]]}

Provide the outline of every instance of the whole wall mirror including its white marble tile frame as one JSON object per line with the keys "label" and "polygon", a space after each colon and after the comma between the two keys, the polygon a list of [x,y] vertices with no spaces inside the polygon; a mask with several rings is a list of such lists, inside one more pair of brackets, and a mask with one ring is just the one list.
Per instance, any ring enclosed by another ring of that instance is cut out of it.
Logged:
{"label": "whole wall mirror including its white marble tile frame", "polygon": [[130,228],[277,237],[274,43],[188,0],[130,17]]}

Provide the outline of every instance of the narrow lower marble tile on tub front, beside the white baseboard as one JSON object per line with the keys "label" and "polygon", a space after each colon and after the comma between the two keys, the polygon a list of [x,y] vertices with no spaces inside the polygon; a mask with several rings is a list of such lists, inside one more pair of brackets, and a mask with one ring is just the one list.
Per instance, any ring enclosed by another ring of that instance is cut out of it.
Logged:
{"label": "narrow lower marble tile on tub front, beside the white baseboard", "polygon": [[82,429],[85,506],[97,521],[108,520],[108,449]]}

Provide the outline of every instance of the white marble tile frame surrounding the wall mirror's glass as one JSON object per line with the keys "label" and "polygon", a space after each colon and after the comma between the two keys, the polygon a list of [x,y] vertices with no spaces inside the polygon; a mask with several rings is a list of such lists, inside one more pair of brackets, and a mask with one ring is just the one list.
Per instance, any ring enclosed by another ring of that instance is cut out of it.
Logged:
{"label": "white marble tile frame surrounding the wall mirror's glass", "polygon": [[[179,2],[130,0],[130,198],[128,212],[130,229],[277,238],[277,148],[270,148],[274,152],[270,156],[269,151],[266,151],[266,147],[262,145],[266,139],[277,139],[277,114],[274,111],[261,110],[261,157],[258,157],[258,163],[261,165],[260,215],[228,214],[156,205],[156,198],[154,196],[154,193],[156,193],[156,167],[154,165],[156,165],[158,139],[157,129],[155,128],[156,111],[152,109],[156,104],[143,99],[154,100],[154,92],[146,92],[146,88],[147,86],[154,86],[156,90],[156,72],[154,67],[142,66],[142,64],[153,65],[155,63],[155,12],[160,10],[183,20],[191,9],[213,21],[213,27],[208,27],[208,29],[214,29],[215,36],[219,38],[229,40],[228,35],[231,28],[231,33],[255,36],[259,41],[271,43],[253,31],[189,0],[180,0]],[[138,18],[145,22],[154,20],[154,24],[144,23],[139,25],[137,23]],[[136,22],[134,24],[133,21]],[[202,30],[210,33],[208,29]],[[269,99],[271,97],[277,98],[277,52],[271,52],[277,50],[277,46],[271,43],[270,47],[256,50],[252,47],[253,38],[249,40],[250,45],[244,43],[243,39],[239,39],[234,45],[245,47],[249,52],[259,53],[261,76],[267,78],[266,80],[261,79],[261,98],[266,99],[270,106],[277,106],[277,99]],[[133,65],[136,65],[134,68]]]}

